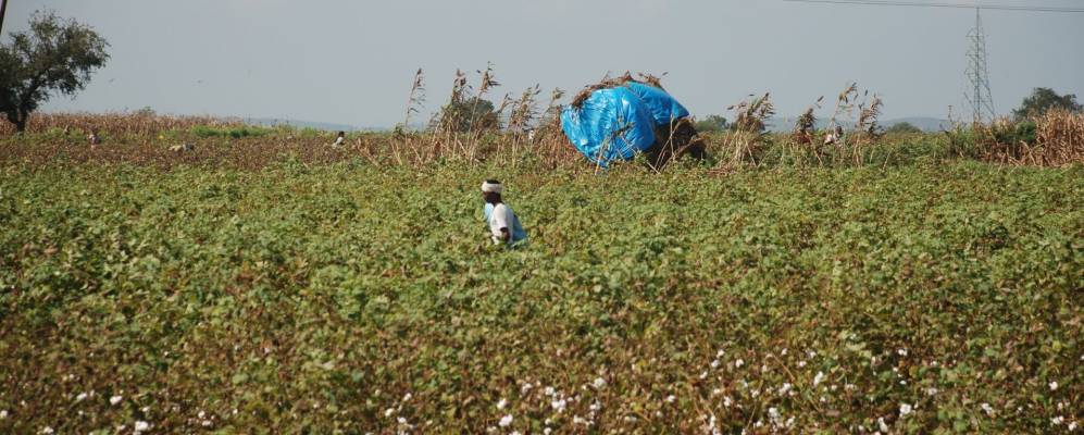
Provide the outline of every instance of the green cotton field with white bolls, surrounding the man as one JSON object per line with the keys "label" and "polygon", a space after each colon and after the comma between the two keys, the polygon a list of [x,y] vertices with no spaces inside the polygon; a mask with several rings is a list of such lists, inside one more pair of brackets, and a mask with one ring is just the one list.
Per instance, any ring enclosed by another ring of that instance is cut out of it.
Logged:
{"label": "green cotton field with white bolls, surrounding the man", "polygon": [[[1081,167],[888,150],[4,164],[0,433],[1080,425]],[[522,249],[491,249],[490,177]]]}

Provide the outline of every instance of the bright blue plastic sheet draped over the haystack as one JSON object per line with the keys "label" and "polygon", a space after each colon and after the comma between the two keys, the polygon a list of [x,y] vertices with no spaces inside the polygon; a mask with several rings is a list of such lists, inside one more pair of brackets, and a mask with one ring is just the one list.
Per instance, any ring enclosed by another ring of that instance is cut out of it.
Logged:
{"label": "bright blue plastic sheet draped over the haystack", "polygon": [[689,115],[657,87],[630,82],[598,89],[577,109],[561,111],[561,129],[588,160],[602,166],[628,160],[655,145],[655,128]]}

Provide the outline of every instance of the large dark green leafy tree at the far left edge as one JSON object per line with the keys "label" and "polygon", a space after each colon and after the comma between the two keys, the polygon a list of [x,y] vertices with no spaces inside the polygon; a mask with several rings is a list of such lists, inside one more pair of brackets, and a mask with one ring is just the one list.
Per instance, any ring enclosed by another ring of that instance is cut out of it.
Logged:
{"label": "large dark green leafy tree at the far left edge", "polygon": [[17,132],[52,94],[82,90],[109,60],[104,38],[54,12],[35,12],[29,32],[11,37],[11,44],[0,45],[0,112]]}

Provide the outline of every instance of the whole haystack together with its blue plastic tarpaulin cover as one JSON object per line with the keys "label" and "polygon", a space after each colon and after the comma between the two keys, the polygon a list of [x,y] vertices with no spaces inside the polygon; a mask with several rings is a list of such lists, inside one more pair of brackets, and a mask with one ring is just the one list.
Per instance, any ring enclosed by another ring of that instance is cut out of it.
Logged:
{"label": "whole haystack together with its blue plastic tarpaulin cover", "polygon": [[631,74],[584,88],[561,111],[561,129],[588,160],[607,166],[644,152],[655,165],[674,156],[703,158],[688,110],[659,79]]}

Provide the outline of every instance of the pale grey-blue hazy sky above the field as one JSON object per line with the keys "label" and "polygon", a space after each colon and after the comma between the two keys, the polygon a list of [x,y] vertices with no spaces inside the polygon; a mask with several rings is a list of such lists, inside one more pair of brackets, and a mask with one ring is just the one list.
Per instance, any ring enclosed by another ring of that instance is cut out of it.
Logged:
{"label": "pale grey-blue hazy sky above the field", "polygon": [[[931,0],[917,0],[931,1]],[[968,0],[940,0],[960,1]],[[984,0],[1084,7],[1084,0]],[[663,85],[703,116],[771,91],[781,115],[849,80],[882,95],[883,119],[965,110],[973,10],[782,0],[11,0],[4,33],[50,8],[97,28],[112,59],[50,111],[266,116],[390,126],[414,71],[428,110],[456,69],[486,62],[519,94],[570,94],[607,72],[669,72]],[[984,12],[998,112],[1033,87],[1084,98],[1084,13]],[[9,40],[4,35],[4,41]],[[821,113],[826,113],[825,108]],[[957,112],[959,113],[959,112]],[[727,114],[728,115],[728,114]],[[730,115],[727,117],[731,117]]]}

